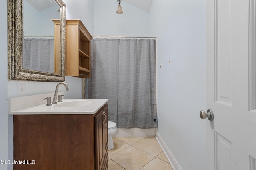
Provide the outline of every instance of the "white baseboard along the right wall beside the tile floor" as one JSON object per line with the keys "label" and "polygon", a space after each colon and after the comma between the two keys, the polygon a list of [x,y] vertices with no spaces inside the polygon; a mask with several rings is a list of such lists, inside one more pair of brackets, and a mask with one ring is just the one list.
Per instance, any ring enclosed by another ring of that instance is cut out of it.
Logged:
{"label": "white baseboard along the right wall beside the tile floor", "polygon": [[174,158],[172,152],[167,147],[167,145],[165,144],[164,140],[162,139],[162,137],[160,136],[158,131],[156,132],[156,139],[157,139],[159,145],[162,147],[162,150],[164,151],[164,153],[165,153],[167,159],[169,160],[170,164],[172,165],[173,170],[182,170],[181,166],[179,165],[177,160]]}

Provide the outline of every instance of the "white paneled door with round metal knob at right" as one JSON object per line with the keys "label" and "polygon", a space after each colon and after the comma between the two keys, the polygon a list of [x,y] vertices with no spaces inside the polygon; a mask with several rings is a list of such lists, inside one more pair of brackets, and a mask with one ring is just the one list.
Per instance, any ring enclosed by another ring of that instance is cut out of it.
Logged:
{"label": "white paneled door with round metal knob at right", "polygon": [[207,0],[208,170],[256,170],[256,0]]}

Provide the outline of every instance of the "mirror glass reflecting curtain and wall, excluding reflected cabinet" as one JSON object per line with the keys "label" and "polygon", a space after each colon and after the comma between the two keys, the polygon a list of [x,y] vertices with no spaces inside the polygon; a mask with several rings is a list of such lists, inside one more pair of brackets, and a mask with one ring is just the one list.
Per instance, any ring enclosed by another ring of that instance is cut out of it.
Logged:
{"label": "mirror glass reflecting curtain and wall, excluding reflected cabinet", "polygon": [[55,0],[24,0],[22,68],[40,72],[54,70],[54,23],[60,18]]}

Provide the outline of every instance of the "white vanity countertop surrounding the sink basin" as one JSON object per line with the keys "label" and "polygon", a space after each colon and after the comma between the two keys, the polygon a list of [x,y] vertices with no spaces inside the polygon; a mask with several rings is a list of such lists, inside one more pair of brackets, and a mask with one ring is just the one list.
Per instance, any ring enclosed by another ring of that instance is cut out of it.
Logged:
{"label": "white vanity countertop surrounding the sink basin", "polygon": [[90,101],[92,103],[86,106],[78,106],[78,107],[57,107],[58,104],[52,104],[51,106],[46,106],[46,103],[45,103],[45,104],[40,104],[32,107],[27,107],[24,109],[12,110],[8,112],[8,114],[9,115],[94,114],[108,102],[108,99],[63,99],[62,101],[63,102],[58,104],[64,105],[65,102],[71,102],[71,101]]}

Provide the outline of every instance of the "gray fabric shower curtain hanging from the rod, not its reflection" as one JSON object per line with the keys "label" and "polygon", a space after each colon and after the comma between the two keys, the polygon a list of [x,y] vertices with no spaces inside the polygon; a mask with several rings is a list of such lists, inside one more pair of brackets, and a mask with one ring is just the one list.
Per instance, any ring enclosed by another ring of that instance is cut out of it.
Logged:
{"label": "gray fabric shower curtain hanging from the rod, not its reflection", "polygon": [[108,120],[157,127],[156,39],[93,38],[88,98],[108,98]]}

